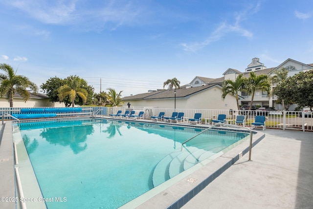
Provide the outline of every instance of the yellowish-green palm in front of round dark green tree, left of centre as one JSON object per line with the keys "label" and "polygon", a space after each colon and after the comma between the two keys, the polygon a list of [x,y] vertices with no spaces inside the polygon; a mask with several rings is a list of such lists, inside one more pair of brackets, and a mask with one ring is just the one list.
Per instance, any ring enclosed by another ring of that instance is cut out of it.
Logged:
{"label": "yellowish-green palm in front of round dark green tree, left of centre", "polygon": [[79,96],[80,98],[82,98],[83,103],[85,103],[87,101],[88,93],[86,89],[81,88],[82,83],[83,79],[75,77],[73,80],[71,80],[69,85],[65,84],[61,86],[58,89],[60,101],[62,101],[64,97],[69,96],[72,107],[74,107],[75,98]]}

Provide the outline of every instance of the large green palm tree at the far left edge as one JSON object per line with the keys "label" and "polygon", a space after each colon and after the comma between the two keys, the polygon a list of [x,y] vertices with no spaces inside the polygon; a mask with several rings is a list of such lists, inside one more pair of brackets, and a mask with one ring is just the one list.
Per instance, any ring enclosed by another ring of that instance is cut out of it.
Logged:
{"label": "large green palm tree at the far left edge", "polygon": [[13,97],[15,93],[19,93],[26,102],[30,94],[27,88],[33,93],[37,93],[38,87],[23,75],[17,75],[13,68],[5,63],[0,64],[0,69],[5,73],[0,73],[0,96],[6,95],[10,102],[10,107],[13,107]]}

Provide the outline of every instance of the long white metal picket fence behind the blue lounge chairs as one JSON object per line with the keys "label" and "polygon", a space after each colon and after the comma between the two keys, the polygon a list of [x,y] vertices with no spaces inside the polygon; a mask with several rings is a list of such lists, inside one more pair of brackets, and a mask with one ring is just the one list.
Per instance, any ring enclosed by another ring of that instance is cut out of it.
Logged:
{"label": "long white metal picket fence behind the blue lounge chairs", "polygon": [[[46,108],[46,107],[43,107]],[[246,126],[250,126],[251,122],[255,120],[255,116],[266,116],[266,127],[276,129],[293,129],[301,131],[313,131],[313,117],[312,113],[305,113],[299,111],[243,111],[243,110],[207,110],[207,109],[168,109],[157,107],[81,107],[82,112],[67,112],[58,113],[58,116],[109,116],[109,114],[116,114],[118,110],[122,113],[128,111],[144,111],[144,118],[150,119],[151,116],[158,116],[160,112],[164,112],[165,116],[172,116],[173,112],[183,112],[185,118],[193,118],[195,113],[201,113],[202,122],[209,122],[212,119],[216,119],[218,115],[225,114],[227,123],[234,124],[237,115],[246,116]],[[20,114],[21,109],[24,108],[0,108],[0,116],[4,119],[10,119],[5,114]],[[31,109],[31,108],[30,108]],[[36,107],[38,109],[38,107]]]}

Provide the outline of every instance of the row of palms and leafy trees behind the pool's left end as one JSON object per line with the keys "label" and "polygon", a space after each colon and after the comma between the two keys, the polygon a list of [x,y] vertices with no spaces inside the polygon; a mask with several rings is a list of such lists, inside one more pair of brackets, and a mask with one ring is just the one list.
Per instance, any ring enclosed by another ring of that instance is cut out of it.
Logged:
{"label": "row of palms and leafy trees behind the pool's left end", "polygon": [[[30,97],[29,91],[38,93],[38,87],[23,75],[17,75],[17,70],[5,63],[0,64],[0,96],[5,96],[13,107],[15,93],[21,95],[27,102]],[[87,81],[77,75],[68,76],[65,79],[58,77],[49,78],[41,86],[41,89],[49,97],[51,102],[63,102],[66,107],[83,104],[100,104],[118,106],[123,103],[122,91],[116,93],[109,88],[108,93],[94,93],[94,88],[87,84]]]}

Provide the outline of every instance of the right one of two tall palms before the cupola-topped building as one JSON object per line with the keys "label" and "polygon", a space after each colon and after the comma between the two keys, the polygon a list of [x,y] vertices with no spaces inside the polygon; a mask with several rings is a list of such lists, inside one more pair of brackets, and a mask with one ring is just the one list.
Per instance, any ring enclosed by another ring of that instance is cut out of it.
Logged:
{"label": "right one of two tall palms before the cupola-topped building", "polygon": [[262,92],[267,92],[270,94],[270,82],[267,74],[256,75],[255,72],[250,72],[250,77],[246,79],[246,84],[244,87],[245,91],[251,95],[251,102],[249,110],[251,110],[254,93],[257,90],[261,90]]}

